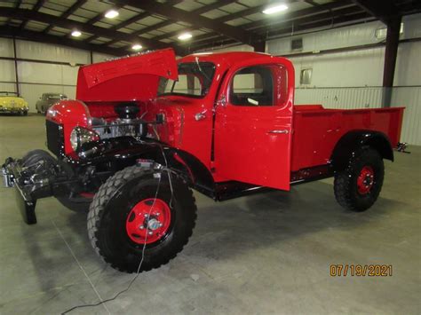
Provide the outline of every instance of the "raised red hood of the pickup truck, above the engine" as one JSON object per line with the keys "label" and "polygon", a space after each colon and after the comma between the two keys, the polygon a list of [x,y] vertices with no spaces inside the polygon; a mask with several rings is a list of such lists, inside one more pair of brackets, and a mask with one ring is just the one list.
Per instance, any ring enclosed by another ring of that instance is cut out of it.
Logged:
{"label": "raised red hood of the pickup truck, above the engine", "polygon": [[80,67],[76,98],[90,102],[147,100],[156,97],[160,77],[178,78],[172,49]]}

